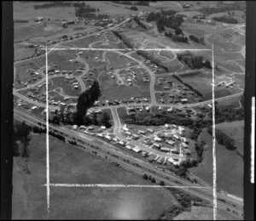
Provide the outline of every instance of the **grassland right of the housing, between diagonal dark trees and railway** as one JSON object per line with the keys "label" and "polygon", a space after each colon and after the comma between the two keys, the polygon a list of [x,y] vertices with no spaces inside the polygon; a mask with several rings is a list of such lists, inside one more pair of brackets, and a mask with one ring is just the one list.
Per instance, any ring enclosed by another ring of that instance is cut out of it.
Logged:
{"label": "grassland right of the housing, between diagonal dark trees and railway", "polygon": [[[191,173],[212,184],[212,136],[203,129],[200,138],[207,145],[203,153],[203,161],[198,167],[190,168]],[[217,188],[230,194],[243,196],[243,160],[235,151],[227,150],[216,144]]]}

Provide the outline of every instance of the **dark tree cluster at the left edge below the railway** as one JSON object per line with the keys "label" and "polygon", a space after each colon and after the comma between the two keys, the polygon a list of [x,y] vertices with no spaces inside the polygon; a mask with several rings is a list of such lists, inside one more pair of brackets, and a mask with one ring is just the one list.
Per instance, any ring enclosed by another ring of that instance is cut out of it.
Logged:
{"label": "dark tree cluster at the left edge below the railway", "polygon": [[[13,133],[13,156],[28,157],[27,146],[30,141],[30,133],[32,127],[28,126],[25,122],[14,122],[14,133]],[[18,144],[20,141],[20,145]]]}

